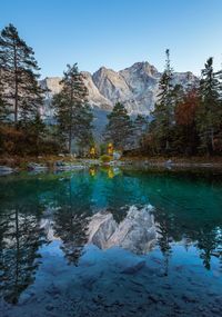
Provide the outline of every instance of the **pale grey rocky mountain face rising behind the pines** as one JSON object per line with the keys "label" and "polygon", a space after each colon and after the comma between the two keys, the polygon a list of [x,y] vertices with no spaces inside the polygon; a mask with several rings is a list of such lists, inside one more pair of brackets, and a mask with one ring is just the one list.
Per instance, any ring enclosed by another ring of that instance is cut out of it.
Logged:
{"label": "pale grey rocky mountain face rising behind the pines", "polygon": [[[102,67],[93,75],[87,71],[82,73],[89,90],[89,102],[97,111],[109,111],[117,101],[123,102],[130,115],[149,115],[153,110],[161,72],[149,62],[137,62],[120,71]],[[44,88],[50,89],[46,97],[46,109],[42,109],[49,117],[50,99],[60,91],[60,80],[54,77],[41,81]],[[196,82],[198,78],[191,72],[175,72],[173,81],[186,86]]]}

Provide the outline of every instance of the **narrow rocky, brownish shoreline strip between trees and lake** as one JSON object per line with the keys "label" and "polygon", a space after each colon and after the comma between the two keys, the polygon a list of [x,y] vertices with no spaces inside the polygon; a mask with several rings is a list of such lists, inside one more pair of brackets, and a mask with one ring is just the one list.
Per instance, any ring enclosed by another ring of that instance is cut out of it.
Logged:
{"label": "narrow rocky, brownish shoreline strip between trees and lake", "polygon": [[61,161],[67,166],[79,166],[83,168],[90,166],[132,166],[132,167],[160,167],[160,168],[216,168],[222,169],[222,157],[122,157],[120,160],[102,164],[100,159],[74,158],[70,155],[58,156],[0,156],[0,166],[27,170],[30,164],[44,165],[47,169],[52,170],[54,164]]}

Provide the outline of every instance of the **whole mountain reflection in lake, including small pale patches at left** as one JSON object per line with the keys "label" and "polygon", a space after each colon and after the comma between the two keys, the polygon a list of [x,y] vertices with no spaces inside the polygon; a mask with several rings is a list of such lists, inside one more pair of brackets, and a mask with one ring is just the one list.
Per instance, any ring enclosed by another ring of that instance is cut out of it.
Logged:
{"label": "whole mountain reflection in lake, including small pale patches at left", "polygon": [[[151,205],[143,208],[130,206],[120,222],[115,221],[110,211],[98,211],[87,219],[88,225],[83,232],[85,244],[94,245],[102,250],[119,247],[137,255],[145,255],[152,250],[160,237],[153,210]],[[49,242],[60,240],[61,238],[54,232],[53,217],[50,216],[53,215],[53,208],[48,208],[44,212],[48,218],[41,219],[40,227],[44,231],[47,240]],[[74,241],[67,247],[72,251],[77,248]]]}

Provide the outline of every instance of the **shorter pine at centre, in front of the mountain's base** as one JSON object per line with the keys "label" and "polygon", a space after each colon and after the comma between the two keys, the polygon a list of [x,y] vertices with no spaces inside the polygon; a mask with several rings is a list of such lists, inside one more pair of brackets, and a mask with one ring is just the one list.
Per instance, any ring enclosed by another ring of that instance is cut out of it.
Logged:
{"label": "shorter pine at centre, in front of the mountain's base", "polygon": [[108,115],[105,138],[114,143],[117,149],[123,150],[131,142],[133,126],[127,109],[120,102],[115,103]]}

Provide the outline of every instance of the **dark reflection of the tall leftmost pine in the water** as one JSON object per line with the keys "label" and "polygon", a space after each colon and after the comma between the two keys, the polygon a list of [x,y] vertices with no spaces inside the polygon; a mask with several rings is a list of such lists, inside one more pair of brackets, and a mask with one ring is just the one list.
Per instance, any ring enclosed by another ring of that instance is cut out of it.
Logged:
{"label": "dark reflection of the tall leftmost pine in the water", "polygon": [[34,280],[44,235],[39,226],[40,215],[33,211],[33,206],[14,206],[1,216],[0,291],[6,301],[17,304],[20,294]]}

